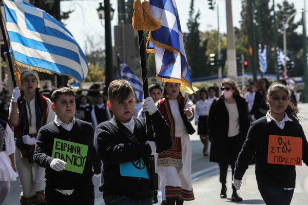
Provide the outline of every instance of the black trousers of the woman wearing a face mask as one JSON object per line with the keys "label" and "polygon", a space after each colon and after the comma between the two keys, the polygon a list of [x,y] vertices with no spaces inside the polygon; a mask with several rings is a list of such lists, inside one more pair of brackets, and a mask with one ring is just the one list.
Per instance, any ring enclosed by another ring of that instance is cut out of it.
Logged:
{"label": "black trousers of the woman wearing a face mask", "polygon": [[[237,160],[237,156],[241,151],[240,145],[240,135],[236,135],[234,137],[227,137],[227,149],[225,156],[227,158],[225,163],[219,163],[219,181],[222,186],[225,186],[227,183],[227,171],[228,165],[231,164],[232,176],[234,175],[235,162]],[[233,177],[232,177],[233,178]],[[232,185],[233,191],[236,192],[236,188]]]}

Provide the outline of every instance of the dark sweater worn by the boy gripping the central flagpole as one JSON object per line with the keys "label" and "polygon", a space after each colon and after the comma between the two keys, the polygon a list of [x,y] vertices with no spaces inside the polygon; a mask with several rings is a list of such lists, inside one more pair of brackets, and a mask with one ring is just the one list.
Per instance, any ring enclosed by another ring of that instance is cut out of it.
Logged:
{"label": "dark sweater worn by the boy gripping the central flagpole", "polygon": [[[150,115],[157,152],[168,150],[172,146],[172,138],[167,122],[159,111]],[[100,191],[103,197],[125,195],[132,199],[149,199],[152,195],[149,178],[128,174],[123,165],[136,165],[136,161],[147,158],[151,154],[150,145],[146,142],[145,119],[133,117],[134,132],[140,144],[132,143],[122,131],[110,121],[102,122],[94,134],[95,149],[103,161]],[[147,161],[141,163],[147,164]],[[141,170],[141,169],[140,169]]]}

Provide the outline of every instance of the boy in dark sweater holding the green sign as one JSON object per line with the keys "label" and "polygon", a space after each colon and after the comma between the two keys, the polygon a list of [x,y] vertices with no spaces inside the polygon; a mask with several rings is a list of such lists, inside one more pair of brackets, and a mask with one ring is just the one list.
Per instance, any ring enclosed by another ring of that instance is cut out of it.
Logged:
{"label": "boy in dark sweater holding the green sign", "polygon": [[75,92],[56,89],[51,108],[53,122],[37,134],[34,161],[45,168],[46,204],[94,204],[94,174],[101,173],[101,161],[93,148],[93,127],[75,119]]}

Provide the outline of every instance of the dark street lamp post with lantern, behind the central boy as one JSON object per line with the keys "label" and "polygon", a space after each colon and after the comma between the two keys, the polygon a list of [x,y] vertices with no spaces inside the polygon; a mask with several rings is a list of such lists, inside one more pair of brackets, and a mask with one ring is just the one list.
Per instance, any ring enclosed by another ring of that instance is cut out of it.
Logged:
{"label": "dark street lamp post with lantern, behind the central boy", "polygon": [[102,6],[103,3],[100,3],[99,8],[97,8],[99,19],[105,19],[105,45],[106,45],[106,79],[105,79],[105,88],[104,88],[104,95],[107,95],[108,87],[111,81],[113,80],[112,75],[112,44],[111,44],[111,20],[113,18],[114,9],[111,8],[110,1],[104,1],[104,7]]}

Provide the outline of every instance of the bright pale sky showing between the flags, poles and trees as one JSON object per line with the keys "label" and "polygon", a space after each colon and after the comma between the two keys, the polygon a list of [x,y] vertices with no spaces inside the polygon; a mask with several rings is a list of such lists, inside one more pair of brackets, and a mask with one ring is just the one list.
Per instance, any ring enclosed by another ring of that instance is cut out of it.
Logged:
{"label": "bright pale sky showing between the flags, poles and trees", "polygon": [[[288,2],[294,3],[295,8],[300,10],[304,8],[305,0],[290,0]],[[93,38],[93,41],[96,45],[104,46],[104,20],[103,25],[99,20],[97,8],[99,3],[103,0],[77,0],[77,1],[61,1],[61,11],[67,12],[69,10],[74,10],[70,14],[69,19],[64,20],[67,29],[73,34],[77,42],[80,44],[81,48],[85,49],[85,40],[87,36]],[[220,32],[226,33],[226,10],[225,10],[225,0],[218,0],[219,2],[219,22],[220,22]],[[242,10],[242,0],[232,0],[232,10],[233,10],[233,25],[239,27],[239,21],[241,20],[240,12]],[[275,4],[282,3],[283,0],[275,0]],[[182,32],[187,32],[187,19],[189,13],[190,0],[176,0],[178,12],[180,16]],[[269,3],[269,7],[272,7],[273,1]],[[111,20],[111,30],[112,30],[112,39],[113,39],[113,26],[118,25],[118,4],[117,0],[110,0],[112,8],[115,9],[113,20]],[[200,31],[209,31],[211,29],[217,29],[217,10],[214,11],[208,9],[207,0],[195,0],[194,3],[195,11],[197,12],[200,9]],[[103,4],[104,5],[104,4]],[[308,7],[308,0],[306,2]],[[276,8],[277,10],[277,8]],[[298,14],[295,17],[295,22],[301,18],[301,15]],[[306,20],[308,23],[308,20]],[[308,28],[306,26],[306,28]],[[301,28],[298,32],[301,32]],[[103,38],[102,38],[103,37]],[[112,40],[113,41],[113,40]],[[113,43],[114,44],[114,43]]]}

